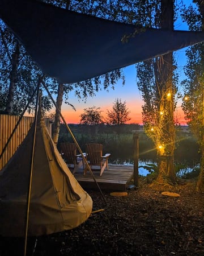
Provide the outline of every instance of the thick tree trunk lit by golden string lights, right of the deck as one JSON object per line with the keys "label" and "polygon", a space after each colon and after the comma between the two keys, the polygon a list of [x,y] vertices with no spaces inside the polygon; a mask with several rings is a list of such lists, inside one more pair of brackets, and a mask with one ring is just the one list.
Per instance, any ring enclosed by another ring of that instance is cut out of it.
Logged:
{"label": "thick tree trunk lit by golden string lights, right of the deck", "polygon": [[[162,0],[161,27],[173,30],[173,1]],[[176,174],[173,161],[175,150],[175,125],[173,120],[174,112],[174,94],[172,77],[173,77],[173,55],[167,53],[160,58],[160,111],[164,115],[160,117],[162,122],[163,138],[161,143],[165,149],[158,151],[158,183],[175,182]],[[164,141],[165,138],[165,141]]]}

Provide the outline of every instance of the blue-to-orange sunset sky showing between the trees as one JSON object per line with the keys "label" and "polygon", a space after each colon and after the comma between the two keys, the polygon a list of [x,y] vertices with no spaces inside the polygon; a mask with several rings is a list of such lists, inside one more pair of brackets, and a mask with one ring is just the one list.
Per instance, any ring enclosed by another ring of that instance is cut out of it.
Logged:
{"label": "blue-to-orange sunset sky showing between the trees", "polygon": [[[186,0],[185,4],[187,5],[192,1]],[[182,23],[181,20],[177,20],[175,23],[175,30],[188,30],[186,24]],[[180,75],[180,81],[184,79],[183,67],[186,62],[185,58],[185,49],[183,48],[180,51],[174,52],[175,59],[177,60],[178,72]],[[91,108],[92,106],[96,106],[96,108],[100,108],[103,112],[101,113],[103,117],[106,117],[107,110],[112,109],[113,102],[119,98],[122,102],[126,101],[126,106],[130,111],[131,120],[129,123],[139,123],[142,124],[142,105],[143,100],[141,94],[137,88],[137,74],[135,65],[131,65],[124,69],[126,82],[125,86],[122,86],[122,81],[118,81],[117,85],[115,85],[115,89],[109,88],[109,92],[105,92],[101,90],[96,93],[95,97],[88,97],[86,103],[78,101],[78,99],[74,96],[74,94],[70,94],[70,104],[75,106],[75,110],[71,108],[71,106],[63,104],[62,105],[62,115],[65,118],[67,123],[79,123],[80,122],[80,114],[83,113],[85,108]],[[178,85],[179,90],[181,91],[180,85]],[[184,113],[181,109],[181,100],[177,104],[175,117],[179,119],[181,125],[185,125]]]}

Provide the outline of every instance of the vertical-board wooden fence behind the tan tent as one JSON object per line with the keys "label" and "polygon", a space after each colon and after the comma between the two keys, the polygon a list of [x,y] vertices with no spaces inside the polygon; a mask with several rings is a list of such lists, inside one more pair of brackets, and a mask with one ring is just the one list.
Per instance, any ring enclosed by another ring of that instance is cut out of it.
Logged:
{"label": "vertical-board wooden fence behind the tan tent", "polygon": [[[8,138],[14,130],[19,118],[20,117],[17,115],[0,115],[0,154],[2,154],[2,150],[5,147]],[[23,117],[20,120],[19,125],[15,130],[15,133],[12,135],[11,141],[8,143],[8,146],[6,147],[6,150],[0,159],[0,170],[3,168],[3,166],[5,166],[11,156],[15,153],[20,143],[22,143],[33,121],[34,117]],[[45,118],[45,125],[49,131],[49,134],[51,134],[52,126],[49,122],[49,118]]]}

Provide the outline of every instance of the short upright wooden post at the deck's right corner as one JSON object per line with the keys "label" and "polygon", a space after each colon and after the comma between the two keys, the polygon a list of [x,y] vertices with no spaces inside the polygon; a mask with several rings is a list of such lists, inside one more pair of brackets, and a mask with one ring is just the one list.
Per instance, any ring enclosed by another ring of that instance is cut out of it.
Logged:
{"label": "short upright wooden post at the deck's right corner", "polygon": [[139,171],[138,171],[138,161],[139,161],[139,137],[137,133],[133,134],[134,142],[134,185],[138,187],[139,185]]}

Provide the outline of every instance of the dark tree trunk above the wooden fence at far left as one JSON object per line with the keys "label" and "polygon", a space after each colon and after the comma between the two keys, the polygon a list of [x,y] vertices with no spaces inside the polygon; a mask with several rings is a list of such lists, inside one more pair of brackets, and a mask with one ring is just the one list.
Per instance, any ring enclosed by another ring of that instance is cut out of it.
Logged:
{"label": "dark tree trunk above the wooden fence at far left", "polygon": [[11,115],[14,108],[14,93],[16,90],[16,82],[18,81],[18,64],[19,64],[20,46],[16,43],[15,51],[11,59],[10,85],[8,88],[8,97],[6,102],[5,114]]}

